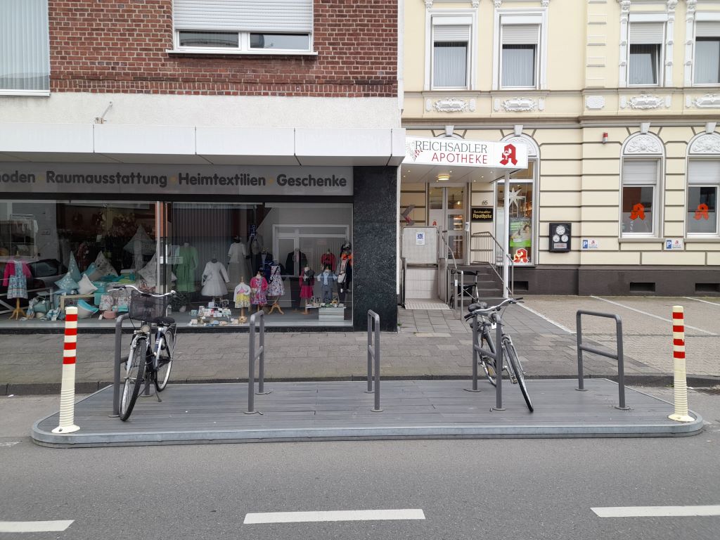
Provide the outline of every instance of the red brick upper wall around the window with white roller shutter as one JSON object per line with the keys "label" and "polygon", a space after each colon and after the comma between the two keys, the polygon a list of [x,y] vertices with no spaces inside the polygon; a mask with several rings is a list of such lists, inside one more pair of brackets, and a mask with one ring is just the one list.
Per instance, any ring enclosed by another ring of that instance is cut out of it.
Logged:
{"label": "red brick upper wall around the window with white roller shutter", "polygon": [[49,0],[53,92],[397,95],[397,2],[315,0],[317,56],[177,55],[171,0]]}

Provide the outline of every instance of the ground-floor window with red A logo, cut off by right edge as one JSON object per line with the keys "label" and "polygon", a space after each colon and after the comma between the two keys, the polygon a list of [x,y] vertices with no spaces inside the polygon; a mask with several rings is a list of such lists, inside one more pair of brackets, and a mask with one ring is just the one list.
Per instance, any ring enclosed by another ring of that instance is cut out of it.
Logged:
{"label": "ground-floor window with red A logo, cut off by right edge", "polygon": [[717,235],[720,160],[688,161],[688,235]]}

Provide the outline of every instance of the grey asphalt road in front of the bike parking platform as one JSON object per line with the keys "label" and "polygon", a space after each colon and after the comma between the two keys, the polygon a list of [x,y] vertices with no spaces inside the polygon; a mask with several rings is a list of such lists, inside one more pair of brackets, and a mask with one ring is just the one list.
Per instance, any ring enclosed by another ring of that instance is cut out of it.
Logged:
{"label": "grey asphalt road in front of the bike parking platform", "polygon": [[[710,424],[689,438],[35,446],[30,423],[57,400],[0,398],[0,521],[72,523],[2,539],[715,540],[720,530],[720,516],[592,510],[719,505],[720,396],[691,392]],[[243,523],[248,513],[390,509],[425,519]]]}

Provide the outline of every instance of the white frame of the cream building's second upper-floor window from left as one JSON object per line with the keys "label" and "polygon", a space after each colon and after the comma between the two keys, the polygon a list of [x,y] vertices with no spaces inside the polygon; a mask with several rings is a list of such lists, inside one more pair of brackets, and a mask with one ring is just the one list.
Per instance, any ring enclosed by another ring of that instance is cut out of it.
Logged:
{"label": "white frame of the cream building's second upper-floor window from left", "polygon": [[[546,7],[539,9],[495,9],[495,39],[492,42],[492,89],[493,90],[544,90],[547,88],[547,14]],[[539,37],[535,58],[534,86],[503,86],[503,41],[501,19],[515,19],[502,24],[538,24]]]}

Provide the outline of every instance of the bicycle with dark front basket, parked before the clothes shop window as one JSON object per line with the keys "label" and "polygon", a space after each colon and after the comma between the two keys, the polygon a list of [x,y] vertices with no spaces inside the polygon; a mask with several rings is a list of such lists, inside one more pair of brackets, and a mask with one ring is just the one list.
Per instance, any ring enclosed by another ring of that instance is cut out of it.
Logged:
{"label": "bicycle with dark front basket, parked before the clothes shop window", "polygon": [[[125,384],[120,397],[120,420],[125,421],[130,418],[144,382],[155,384],[156,397],[162,401],[158,393],[165,390],[170,378],[177,328],[174,318],[167,317],[165,313],[170,297],[176,292],[153,294],[143,292],[134,285],[118,288],[132,289],[128,315],[131,322],[140,321],[140,328],[132,332],[130,354],[125,362]],[[153,325],[156,325],[154,335]],[[154,339],[153,343],[151,338]]]}

